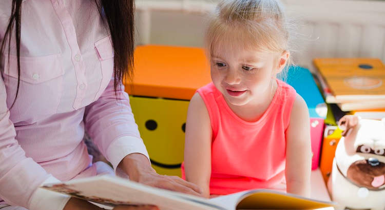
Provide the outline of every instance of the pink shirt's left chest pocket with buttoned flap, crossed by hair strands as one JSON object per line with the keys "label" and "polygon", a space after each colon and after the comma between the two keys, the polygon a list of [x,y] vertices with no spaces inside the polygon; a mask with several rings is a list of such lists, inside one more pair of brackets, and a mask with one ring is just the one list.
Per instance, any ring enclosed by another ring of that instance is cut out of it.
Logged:
{"label": "pink shirt's left chest pocket with buttoned flap, crossed by hair strands", "polygon": [[[17,57],[4,55],[4,58],[4,83],[10,107],[17,90]],[[20,57],[20,86],[11,120],[32,123],[56,113],[63,91],[60,58],[60,54]]]}

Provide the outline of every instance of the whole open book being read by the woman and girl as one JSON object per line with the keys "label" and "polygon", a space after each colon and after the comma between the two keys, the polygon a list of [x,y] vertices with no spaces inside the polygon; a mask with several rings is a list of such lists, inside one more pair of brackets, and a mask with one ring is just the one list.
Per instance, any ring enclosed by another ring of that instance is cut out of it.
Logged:
{"label": "whole open book being read by the woman and girl", "polygon": [[319,201],[271,190],[250,190],[212,199],[172,192],[108,175],[46,184],[42,188],[102,204],[156,205],[159,209],[318,209],[334,202]]}

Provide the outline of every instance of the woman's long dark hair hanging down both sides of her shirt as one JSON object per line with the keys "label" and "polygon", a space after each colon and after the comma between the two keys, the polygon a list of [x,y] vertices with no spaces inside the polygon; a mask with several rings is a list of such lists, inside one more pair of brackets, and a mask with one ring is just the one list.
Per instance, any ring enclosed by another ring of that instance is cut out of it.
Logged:
{"label": "woman's long dark hair hanging down both sides of her shirt", "polygon": [[[3,1],[3,0],[1,0]],[[17,90],[12,106],[16,101],[20,87],[20,34],[22,20],[22,1],[12,0],[11,16],[0,47],[0,56],[8,39],[8,57],[10,52],[12,30],[15,28],[17,56]],[[134,51],[134,0],[94,0],[99,14],[108,27],[114,51],[113,74],[115,93],[120,90],[124,78],[132,78]],[[8,59],[9,60],[9,59]],[[9,64],[5,64],[9,65]],[[10,109],[11,109],[10,108]]]}

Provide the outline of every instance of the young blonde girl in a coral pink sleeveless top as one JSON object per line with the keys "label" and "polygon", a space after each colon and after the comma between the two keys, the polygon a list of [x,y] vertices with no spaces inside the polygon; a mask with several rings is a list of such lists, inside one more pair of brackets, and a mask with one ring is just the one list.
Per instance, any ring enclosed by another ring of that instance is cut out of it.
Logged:
{"label": "young blonde girl in a coral pink sleeveless top", "polygon": [[310,196],[304,100],[276,75],[290,57],[275,0],[224,0],[206,32],[211,79],[192,97],[182,173],[203,195],[252,188]]}

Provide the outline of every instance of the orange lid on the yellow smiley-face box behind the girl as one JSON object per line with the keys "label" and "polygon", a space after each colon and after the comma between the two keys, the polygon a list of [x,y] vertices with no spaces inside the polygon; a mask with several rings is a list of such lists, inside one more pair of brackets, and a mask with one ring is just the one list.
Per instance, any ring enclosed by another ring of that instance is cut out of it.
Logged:
{"label": "orange lid on the yellow smiley-face box behind the girl", "polygon": [[138,46],[134,52],[133,81],[123,81],[131,95],[190,100],[211,82],[202,48]]}

